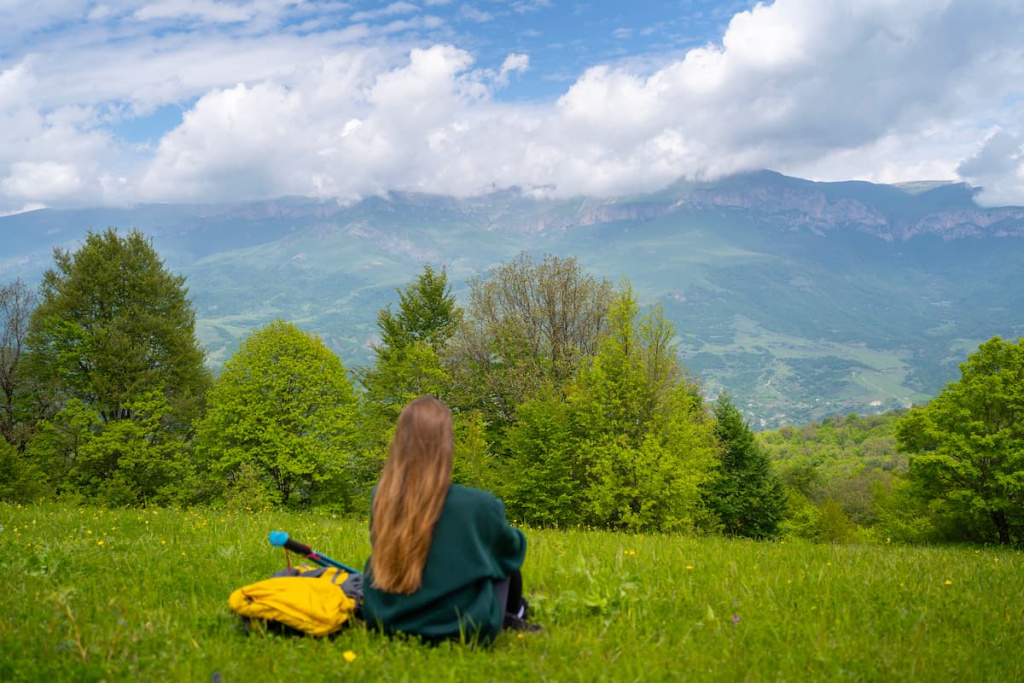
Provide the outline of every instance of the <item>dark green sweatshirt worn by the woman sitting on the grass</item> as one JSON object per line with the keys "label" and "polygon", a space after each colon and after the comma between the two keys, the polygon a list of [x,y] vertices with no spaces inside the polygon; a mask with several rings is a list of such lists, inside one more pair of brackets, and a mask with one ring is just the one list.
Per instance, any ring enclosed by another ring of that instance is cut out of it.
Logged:
{"label": "dark green sweatshirt worn by the woman sitting on the grass", "polygon": [[509,526],[501,501],[485,490],[452,484],[434,527],[420,590],[401,595],[375,589],[371,555],[362,616],[371,628],[430,641],[457,639],[463,633],[467,640],[493,640],[505,613],[494,582],[508,579],[525,556],[526,539]]}

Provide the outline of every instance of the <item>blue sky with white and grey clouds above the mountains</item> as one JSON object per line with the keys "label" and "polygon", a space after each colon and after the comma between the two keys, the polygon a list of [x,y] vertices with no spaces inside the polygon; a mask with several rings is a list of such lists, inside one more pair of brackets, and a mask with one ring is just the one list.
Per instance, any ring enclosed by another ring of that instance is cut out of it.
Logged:
{"label": "blue sky with white and grey clouds above the mountains", "polygon": [[0,0],[0,213],[773,168],[1024,204],[1017,0]]}

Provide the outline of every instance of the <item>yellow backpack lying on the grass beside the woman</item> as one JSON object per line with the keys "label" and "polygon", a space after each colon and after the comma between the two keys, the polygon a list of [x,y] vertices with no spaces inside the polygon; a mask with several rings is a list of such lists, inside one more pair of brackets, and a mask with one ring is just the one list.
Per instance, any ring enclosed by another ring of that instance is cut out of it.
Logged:
{"label": "yellow backpack lying on the grass beside the woman", "polygon": [[335,567],[295,567],[231,593],[228,606],[244,620],[282,624],[312,636],[340,631],[362,598],[362,575]]}

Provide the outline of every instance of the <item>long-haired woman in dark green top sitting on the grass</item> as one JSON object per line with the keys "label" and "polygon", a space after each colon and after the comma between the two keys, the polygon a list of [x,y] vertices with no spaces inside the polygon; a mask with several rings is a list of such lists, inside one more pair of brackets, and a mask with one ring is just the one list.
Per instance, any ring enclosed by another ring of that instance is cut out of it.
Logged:
{"label": "long-haired woman in dark green top sitting on the grass", "polygon": [[388,634],[488,642],[503,626],[528,628],[526,539],[493,495],[452,483],[452,447],[444,403],[402,410],[371,504],[362,615]]}

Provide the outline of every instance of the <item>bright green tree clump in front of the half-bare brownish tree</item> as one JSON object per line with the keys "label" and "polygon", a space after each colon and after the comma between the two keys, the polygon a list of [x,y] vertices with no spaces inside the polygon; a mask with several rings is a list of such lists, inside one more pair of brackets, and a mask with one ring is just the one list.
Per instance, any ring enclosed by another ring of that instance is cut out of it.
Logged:
{"label": "bright green tree clump in front of the half-bare brownish tree", "polygon": [[627,283],[607,325],[567,398],[549,386],[520,407],[506,503],[545,523],[686,528],[715,465],[712,422],[658,308],[641,314]]}

